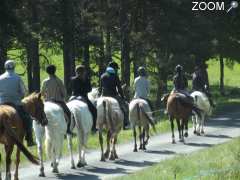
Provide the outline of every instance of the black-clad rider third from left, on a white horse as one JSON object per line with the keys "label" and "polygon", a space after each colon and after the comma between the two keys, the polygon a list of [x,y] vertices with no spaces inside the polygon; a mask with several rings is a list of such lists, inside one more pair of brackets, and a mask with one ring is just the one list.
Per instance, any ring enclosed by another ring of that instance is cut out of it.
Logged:
{"label": "black-clad rider third from left, on a white horse", "polygon": [[79,65],[76,67],[76,76],[71,79],[72,96],[81,97],[87,103],[88,108],[93,116],[92,131],[96,132],[97,109],[88,99],[88,93],[92,90],[91,80],[88,77],[86,67]]}

